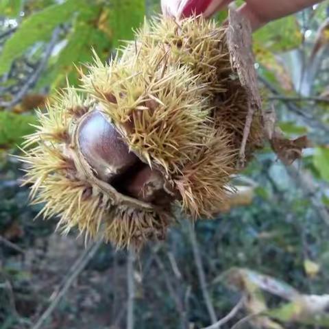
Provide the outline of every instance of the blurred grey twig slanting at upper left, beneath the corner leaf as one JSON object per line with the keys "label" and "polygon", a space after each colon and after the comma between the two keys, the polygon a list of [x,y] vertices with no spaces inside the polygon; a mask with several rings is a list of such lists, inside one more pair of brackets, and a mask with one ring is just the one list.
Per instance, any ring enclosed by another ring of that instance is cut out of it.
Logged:
{"label": "blurred grey twig slanting at upper left, beneath the corner leaf", "polygon": [[13,97],[10,101],[0,101],[0,107],[1,108],[12,108],[16,104],[18,104],[23,97],[27,94],[29,89],[33,88],[34,84],[38,81],[38,78],[40,74],[42,73],[43,69],[45,69],[45,66],[49,60],[49,57],[51,56],[51,52],[53,51],[53,47],[55,47],[56,42],[58,41],[58,36],[60,35],[60,27],[57,27],[53,31],[53,35],[51,36],[51,40],[48,43],[46,49],[45,49],[45,55],[40,60],[38,66],[36,67],[34,73],[29,76],[25,84],[19,89],[19,92]]}

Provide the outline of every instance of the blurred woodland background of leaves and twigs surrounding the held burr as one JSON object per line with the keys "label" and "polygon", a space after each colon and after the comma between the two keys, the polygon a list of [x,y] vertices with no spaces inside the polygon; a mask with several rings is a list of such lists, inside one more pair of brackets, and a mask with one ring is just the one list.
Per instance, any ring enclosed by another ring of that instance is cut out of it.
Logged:
{"label": "blurred woodland background of leaves and twigs surrounding the held burr", "polygon": [[0,0],[0,329],[329,328],[328,1],[254,34],[264,108],[287,137],[307,134],[302,159],[287,167],[265,147],[217,219],[182,218],[138,255],[33,220],[10,154],[34,109],[66,76],[79,83],[73,63],[91,47],[107,60],[158,12],[157,0]]}

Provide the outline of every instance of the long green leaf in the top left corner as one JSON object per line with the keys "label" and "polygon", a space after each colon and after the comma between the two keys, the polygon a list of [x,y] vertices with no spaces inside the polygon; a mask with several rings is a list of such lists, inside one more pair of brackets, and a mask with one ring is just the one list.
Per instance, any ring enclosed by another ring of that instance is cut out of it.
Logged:
{"label": "long green leaf in the top left corner", "polygon": [[12,37],[5,42],[0,56],[0,75],[10,69],[12,61],[38,41],[47,41],[53,29],[68,21],[81,8],[84,0],[67,0],[59,5],[51,5],[45,10],[29,16]]}

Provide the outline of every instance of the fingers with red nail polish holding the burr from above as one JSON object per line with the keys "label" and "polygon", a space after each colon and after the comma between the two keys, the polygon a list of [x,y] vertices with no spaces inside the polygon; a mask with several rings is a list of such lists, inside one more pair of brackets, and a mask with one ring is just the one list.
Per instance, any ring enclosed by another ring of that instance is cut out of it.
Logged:
{"label": "fingers with red nail polish holding the burr from above", "polygon": [[[162,12],[172,16],[190,16],[193,13],[211,16],[227,7],[233,0],[161,0]],[[319,0],[245,0],[239,8],[249,19],[252,29],[298,12]]]}

